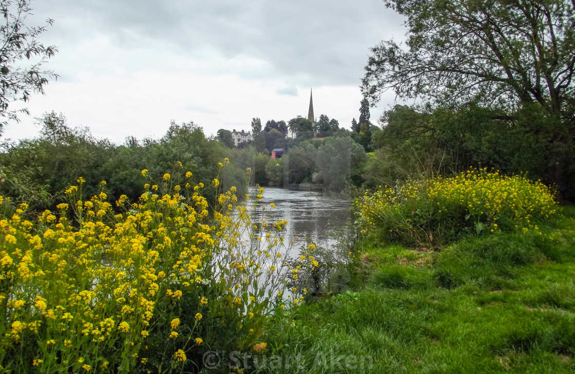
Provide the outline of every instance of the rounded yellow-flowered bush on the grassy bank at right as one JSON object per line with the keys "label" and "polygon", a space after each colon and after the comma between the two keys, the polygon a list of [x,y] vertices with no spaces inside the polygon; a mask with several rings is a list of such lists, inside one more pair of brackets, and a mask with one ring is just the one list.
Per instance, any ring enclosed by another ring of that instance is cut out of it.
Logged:
{"label": "rounded yellow-flowered bush on the grassy bank at right", "polygon": [[468,234],[535,231],[535,222],[556,210],[550,188],[525,175],[471,168],[452,178],[409,180],[367,192],[355,201],[356,225],[364,236],[407,245],[444,244]]}

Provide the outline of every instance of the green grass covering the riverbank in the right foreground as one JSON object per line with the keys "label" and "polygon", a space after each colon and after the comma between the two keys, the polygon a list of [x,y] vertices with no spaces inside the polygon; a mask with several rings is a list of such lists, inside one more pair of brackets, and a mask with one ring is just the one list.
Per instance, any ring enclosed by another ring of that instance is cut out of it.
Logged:
{"label": "green grass covering the riverbank in the right foreground", "polygon": [[575,372],[575,209],[563,214],[543,227],[555,241],[511,233],[435,252],[364,248],[346,292],[304,304],[295,326],[267,327],[265,354],[301,354],[300,367],[260,372]]}

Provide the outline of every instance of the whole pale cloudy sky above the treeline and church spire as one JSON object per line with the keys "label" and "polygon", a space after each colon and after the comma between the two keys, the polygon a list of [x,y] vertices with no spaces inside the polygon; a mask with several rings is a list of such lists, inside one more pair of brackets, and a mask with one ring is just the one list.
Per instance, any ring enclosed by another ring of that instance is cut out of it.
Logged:
{"label": "whole pale cloudy sky above the treeline and church spire", "polygon": [[[350,127],[369,48],[402,40],[402,18],[381,0],[36,0],[29,24],[59,53],[60,75],[34,95],[30,117],[4,138],[34,136],[34,118],[64,114],[98,137],[161,137],[170,120],[204,132],[250,130],[251,118],[307,115]],[[393,103],[390,92],[372,120]]]}

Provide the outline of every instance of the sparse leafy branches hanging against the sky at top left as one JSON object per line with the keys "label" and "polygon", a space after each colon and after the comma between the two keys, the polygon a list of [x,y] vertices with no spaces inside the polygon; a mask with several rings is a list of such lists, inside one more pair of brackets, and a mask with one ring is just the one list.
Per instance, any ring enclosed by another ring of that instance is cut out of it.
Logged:
{"label": "sparse leafy branches hanging against the sky at top left", "polygon": [[[26,102],[32,93],[44,94],[48,79],[57,78],[53,71],[43,69],[43,64],[57,52],[56,47],[46,47],[37,40],[53,21],[48,19],[44,26],[25,26],[32,11],[29,3],[30,0],[0,1],[4,17],[0,26],[0,132],[10,120],[18,121],[18,114],[30,114],[26,108],[11,109],[10,103]],[[23,60],[31,60],[31,64],[26,65]]]}

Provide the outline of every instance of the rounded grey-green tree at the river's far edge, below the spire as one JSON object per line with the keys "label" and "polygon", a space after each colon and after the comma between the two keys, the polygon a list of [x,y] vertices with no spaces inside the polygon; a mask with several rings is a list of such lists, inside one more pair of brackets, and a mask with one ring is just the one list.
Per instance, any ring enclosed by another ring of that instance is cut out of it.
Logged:
{"label": "rounded grey-green tree at the river's far edge, below the spire", "polygon": [[317,149],[317,165],[326,190],[361,185],[366,161],[362,146],[349,137],[328,137]]}

